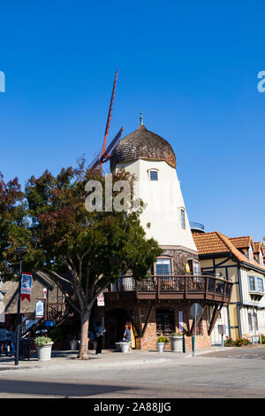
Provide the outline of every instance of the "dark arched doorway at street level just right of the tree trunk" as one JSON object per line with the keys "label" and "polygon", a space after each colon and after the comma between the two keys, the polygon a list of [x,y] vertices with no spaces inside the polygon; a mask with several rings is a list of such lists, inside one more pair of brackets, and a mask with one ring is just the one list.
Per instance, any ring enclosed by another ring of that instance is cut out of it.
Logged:
{"label": "dark arched doorway at street level just right of the tree trunk", "polygon": [[125,309],[117,308],[106,312],[106,348],[116,348],[115,343],[123,338],[125,323],[128,320]]}

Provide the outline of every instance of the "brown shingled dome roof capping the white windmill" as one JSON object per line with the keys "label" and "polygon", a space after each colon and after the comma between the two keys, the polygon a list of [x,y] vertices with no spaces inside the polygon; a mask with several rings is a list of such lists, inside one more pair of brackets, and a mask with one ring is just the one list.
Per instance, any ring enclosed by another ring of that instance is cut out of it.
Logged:
{"label": "brown shingled dome roof capping the white windmill", "polygon": [[138,159],[164,161],[176,168],[176,156],[170,143],[142,124],[117,143],[110,158],[110,169],[112,171],[117,164]]}

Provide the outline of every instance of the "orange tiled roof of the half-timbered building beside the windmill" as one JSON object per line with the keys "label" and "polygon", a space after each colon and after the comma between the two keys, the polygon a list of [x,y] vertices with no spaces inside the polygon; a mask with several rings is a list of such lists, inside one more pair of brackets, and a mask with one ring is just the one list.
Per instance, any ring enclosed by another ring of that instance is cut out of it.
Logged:
{"label": "orange tiled roof of the half-timbered building beside the windmill", "polygon": [[[249,240],[249,238],[251,240]],[[231,253],[240,263],[244,263],[246,266],[258,267],[262,272],[265,272],[265,266],[258,263],[256,260],[250,260],[241,251],[239,247],[236,247],[235,243],[240,246],[246,244],[246,239],[249,243],[253,240],[251,237],[240,237],[229,238],[218,231],[204,234],[193,234],[193,240],[196,244],[198,254],[200,255],[214,255],[214,254],[228,254]],[[244,248],[246,248],[245,246]]]}

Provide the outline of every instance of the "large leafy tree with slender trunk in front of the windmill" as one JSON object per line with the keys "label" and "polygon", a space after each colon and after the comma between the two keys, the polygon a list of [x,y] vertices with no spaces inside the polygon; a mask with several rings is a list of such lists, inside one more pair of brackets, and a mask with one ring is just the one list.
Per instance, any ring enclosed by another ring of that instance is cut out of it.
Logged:
{"label": "large leafy tree with slender trunk in front of the windmill", "polygon": [[[81,160],[76,169],[48,171],[27,181],[26,198],[31,242],[26,261],[51,273],[81,320],[79,358],[87,359],[89,317],[96,298],[122,273],[132,271],[135,280],[147,277],[155,258],[162,253],[140,226],[140,211],[87,211],[87,181],[99,181],[105,195],[105,178],[91,173]],[[125,171],[113,174],[113,182],[129,181]],[[114,193],[113,198],[118,192]],[[104,206],[104,201],[103,201]],[[73,296],[65,291],[64,283]]]}

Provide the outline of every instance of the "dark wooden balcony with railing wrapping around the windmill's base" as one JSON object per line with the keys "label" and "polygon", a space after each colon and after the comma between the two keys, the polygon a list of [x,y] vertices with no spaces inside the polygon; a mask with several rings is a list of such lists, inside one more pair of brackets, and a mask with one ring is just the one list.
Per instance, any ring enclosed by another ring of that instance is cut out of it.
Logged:
{"label": "dark wooden balcony with railing wrapping around the windmill's base", "polygon": [[125,276],[104,290],[118,298],[124,292],[133,292],[137,299],[208,300],[228,304],[231,300],[231,281],[213,276],[150,276],[144,281],[135,281]]}

